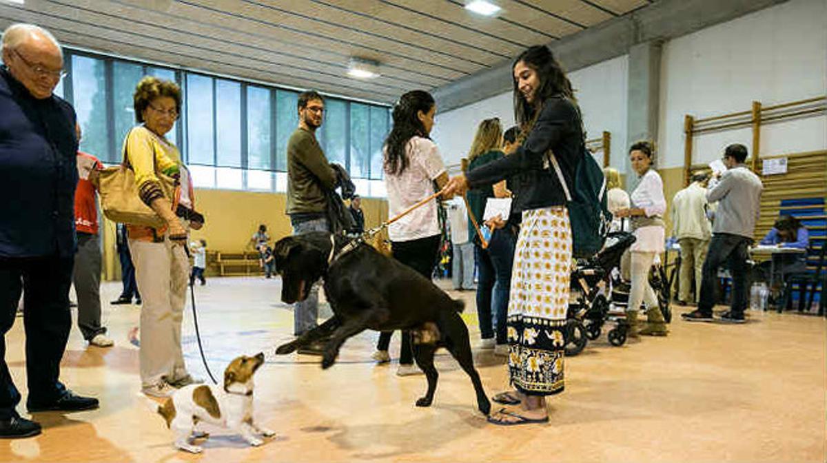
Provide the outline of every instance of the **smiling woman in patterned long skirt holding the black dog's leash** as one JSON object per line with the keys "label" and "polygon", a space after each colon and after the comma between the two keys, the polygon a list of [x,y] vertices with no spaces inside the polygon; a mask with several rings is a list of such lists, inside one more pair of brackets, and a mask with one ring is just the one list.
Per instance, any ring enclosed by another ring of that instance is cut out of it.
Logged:
{"label": "smiling woman in patterned long skirt holding the black dog's leash", "polygon": [[[514,154],[452,178],[443,191],[516,178],[512,208],[522,211],[508,308],[509,375],[513,391],[495,402],[520,405],[488,418],[499,425],[548,421],[546,396],[563,390],[564,334],[571,267],[571,226],[564,187],[574,188],[584,153],[580,110],[552,51],[533,46],[514,60]],[[553,153],[553,154],[552,154]],[[565,185],[552,165],[557,164]]]}

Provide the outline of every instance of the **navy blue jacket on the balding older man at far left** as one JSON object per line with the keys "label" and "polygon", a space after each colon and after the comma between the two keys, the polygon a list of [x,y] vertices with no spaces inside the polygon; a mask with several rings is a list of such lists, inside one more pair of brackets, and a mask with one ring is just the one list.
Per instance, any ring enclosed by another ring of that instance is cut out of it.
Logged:
{"label": "navy blue jacket on the balding older man at far left", "polygon": [[0,259],[74,255],[75,120],[0,69]]}

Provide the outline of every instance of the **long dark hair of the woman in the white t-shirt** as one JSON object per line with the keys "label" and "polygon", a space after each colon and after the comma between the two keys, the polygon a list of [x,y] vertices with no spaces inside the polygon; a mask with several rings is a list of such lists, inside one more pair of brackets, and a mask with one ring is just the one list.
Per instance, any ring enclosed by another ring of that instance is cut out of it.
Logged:
{"label": "long dark hair of the woman in the white t-shirt", "polygon": [[394,105],[394,126],[385,139],[385,173],[398,175],[408,168],[408,155],[405,146],[414,136],[428,138],[418,112],[427,113],[434,105],[431,93],[413,90],[405,93]]}

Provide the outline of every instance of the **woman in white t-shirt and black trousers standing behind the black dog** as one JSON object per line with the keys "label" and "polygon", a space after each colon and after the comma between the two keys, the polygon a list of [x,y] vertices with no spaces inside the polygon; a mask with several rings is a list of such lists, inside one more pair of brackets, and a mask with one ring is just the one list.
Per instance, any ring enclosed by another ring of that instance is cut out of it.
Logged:
{"label": "woman in white t-shirt and black trousers standing behind the black dog", "polygon": [[[430,93],[414,90],[405,93],[394,106],[394,126],[385,140],[385,185],[388,190],[389,216],[428,198],[448,181],[437,145],[429,138],[437,105]],[[388,227],[394,259],[431,279],[442,236],[437,216],[437,200],[414,209]],[[375,360],[390,361],[388,346],[392,332],[383,332],[373,355]],[[399,353],[399,376],[421,373],[414,366],[410,333],[402,333]]]}

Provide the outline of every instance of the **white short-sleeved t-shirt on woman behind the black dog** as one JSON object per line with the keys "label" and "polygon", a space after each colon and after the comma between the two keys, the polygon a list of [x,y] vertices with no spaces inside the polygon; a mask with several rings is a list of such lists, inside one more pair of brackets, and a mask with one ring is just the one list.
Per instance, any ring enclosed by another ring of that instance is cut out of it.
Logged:
{"label": "white short-sleeved t-shirt on woman behind the black dog", "polygon": [[[385,151],[387,146],[385,146]],[[421,136],[414,136],[405,146],[408,167],[402,174],[385,171],[388,190],[388,217],[396,217],[414,204],[434,193],[433,180],[445,172],[437,145]],[[390,241],[412,241],[439,235],[437,200],[432,199],[414,209],[388,227]]]}

